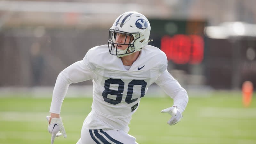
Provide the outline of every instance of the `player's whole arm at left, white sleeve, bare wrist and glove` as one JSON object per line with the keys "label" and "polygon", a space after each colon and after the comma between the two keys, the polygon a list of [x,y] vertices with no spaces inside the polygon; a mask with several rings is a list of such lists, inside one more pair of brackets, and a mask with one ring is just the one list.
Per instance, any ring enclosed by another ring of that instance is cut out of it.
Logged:
{"label": "player's whole arm at left, white sleeve, bare wrist and glove", "polygon": [[62,119],[60,118],[60,108],[68,91],[69,84],[86,81],[92,78],[93,73],[85,66],[84,61],[77,61],[60,72],[53,89],[50,116],[46,117],[49,122],[48,131],[52,134],[52,144],[55,137],[60,135],[63,135],[64,138],[67,137]]}

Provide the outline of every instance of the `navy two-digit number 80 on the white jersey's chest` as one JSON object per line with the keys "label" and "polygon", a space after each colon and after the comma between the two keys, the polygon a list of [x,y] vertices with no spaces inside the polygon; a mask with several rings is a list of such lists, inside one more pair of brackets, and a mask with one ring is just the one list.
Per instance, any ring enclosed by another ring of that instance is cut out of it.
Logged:
{"label": "navy two-digit number 80 on the white jersey's chest", "polygon": [[[118,84],[118,90],[110,90],[110,84]],[[130,104],[132,102],[135,102],[138,98],[132,99],[132,93],[133,93],[133,86],[134,85],[141,85],[141,94],[140,97],[144,97],[145,95],[145,88],[147,86],[147,82],[144,80],[132,80],[128,84],[128,91],[127,91],[127,96],[125,98],[125,102],[127,104]],[[119,104],[121,103],[122,97],[123,97],[123,92],[124,92],[124,82],[120,79],[107,79],[105,81],[104,85],[105,90],[102,92],[102,96],[104,98],[105,102],[108,102],[110,104]],[[108,98],[108,94],[110,95],[115,95],[116,99],[110,99]]]}

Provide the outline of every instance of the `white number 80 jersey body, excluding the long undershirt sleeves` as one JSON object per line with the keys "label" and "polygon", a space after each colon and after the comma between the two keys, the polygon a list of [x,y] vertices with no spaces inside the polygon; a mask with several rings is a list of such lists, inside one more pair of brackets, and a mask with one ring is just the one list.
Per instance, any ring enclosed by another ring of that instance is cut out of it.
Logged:
{"label": "white number 80 jersey body, excluding the long undershirt sleeves", "polygon": [[[127,70],[121,58],[109,54],[107,49],[108,45],[94,47],[83,59],[94,73],[92,110],[102,118],[114,118],[115,123],[123,119],[124,124],[118,125],[127,131],[131,115],[136,112],[148,86],[167,68],[167,58],[160,49],[148,45]],[[90,124],[91,120],[86,123]]]}

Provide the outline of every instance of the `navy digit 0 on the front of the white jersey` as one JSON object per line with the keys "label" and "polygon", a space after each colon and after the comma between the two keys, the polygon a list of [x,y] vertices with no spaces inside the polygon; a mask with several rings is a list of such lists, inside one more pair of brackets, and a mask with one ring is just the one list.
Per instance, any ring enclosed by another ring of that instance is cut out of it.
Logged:
{"label": "navy digit 0 on the front of the white jersey", "polygon": [[[132,80],[129,84],[128,84],[128,92],[127,92],[127,96],[125,98],[125,102],[127,104],[130,104],[132,102],[135,102],[138,98],[132,99],[132,93],[133,93],[133,86],[134,85],[141,85],[141,94],[140,97],[144,97],[145,95],[145,88],[147,85],[147,82],[145,82],[144,80]],[[132,99],[132,100],[131,100]]]}

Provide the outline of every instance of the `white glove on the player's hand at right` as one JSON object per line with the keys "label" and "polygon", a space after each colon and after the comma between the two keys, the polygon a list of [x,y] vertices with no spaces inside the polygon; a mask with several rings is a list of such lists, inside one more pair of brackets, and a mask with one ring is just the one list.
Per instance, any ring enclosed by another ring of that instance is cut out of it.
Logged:
{"label": "white glove on the player's hand at right", "polygon": [[182,118],[180,110],[176,107],[169,107],[167,109],[162,110],[161,112],[168,112],[172,116],[172,118],[167,122],[167,124],[169,124],[170,126],[177,124]]}

